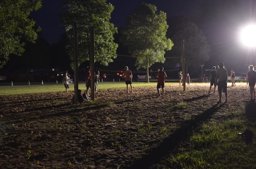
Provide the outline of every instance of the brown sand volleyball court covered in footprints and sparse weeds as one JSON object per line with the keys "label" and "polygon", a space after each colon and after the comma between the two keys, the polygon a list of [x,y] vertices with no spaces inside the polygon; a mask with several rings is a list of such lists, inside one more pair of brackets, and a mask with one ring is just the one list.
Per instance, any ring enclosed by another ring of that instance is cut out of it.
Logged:
{"label": "brown sand volleyball court covered in footprints and sparse weeds", "polygon": [[0,166],[147,168],[198,122],[219,122],[250,99],[244,83],[228,87],[226,104],[216,104],[209,84],[186,87],[167,85],[164,98],[156,87],[99,90],[94,103],[80,105],[71,92],[1,96]]}

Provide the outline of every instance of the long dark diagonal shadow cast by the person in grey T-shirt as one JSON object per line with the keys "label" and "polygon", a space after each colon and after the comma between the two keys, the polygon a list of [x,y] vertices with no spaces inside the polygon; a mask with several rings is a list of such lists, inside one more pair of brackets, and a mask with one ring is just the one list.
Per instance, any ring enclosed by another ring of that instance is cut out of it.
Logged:
{"label": "long dark diagonal shadow cast by the person in grey T-shirt", "polygon": [[147,155],[141,158],[139,161],[134,162],[134,164],[128,168],[149,168],[153,164],[157,164],[162,157],[169,155],[169,152],[172,151],[182,140],[188,138],[188,133],[192,129],[197,128],[200,125],[201,121],[206,121],[209,117],[220,109],[224,104],[214,105],[210,109],[204,111],[204,113],[196,116],[192,121],[185,122],[185,125],[175,132],[173,132],[169,137],[165,138],[162,143],[156,148],[149,150]]}

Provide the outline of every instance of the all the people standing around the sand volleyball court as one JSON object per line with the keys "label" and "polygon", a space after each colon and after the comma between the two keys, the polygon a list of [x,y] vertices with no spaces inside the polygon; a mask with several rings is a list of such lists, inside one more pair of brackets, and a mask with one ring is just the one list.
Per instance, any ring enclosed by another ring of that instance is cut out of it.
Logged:
{"label": "all the people standing around the sand volleyball court", "polygon": [[[256,71],[254,71],[254,66],[253,65],[249,66],[249,70],[250,71],[247,74],[247,76],[248,76],[247,85],[249,83],[251,99],[253,100],[253,99],[255,99],[254,86],[255,86],[255,83],[256,83]],[[158,96],[164,97],[164,82],[165,82],[165,78],[167,77],[166,73],[164,72],[164,67],[159,68],[156,77],[157,77],[157,86],[156,86],[156,88],[157,88]],[[95,78],[94,91],[95,91],[96,94],[98,94],[97,86],[98,86],[98,83],[100,81],[100,72],[99,71],[96,71],[96,74],[95,74],[94,78]],[[129,70],[127,66],[125,66],[124,78],[125,78],[127,93],[129,93],[129,86],[128,85],[130,85],[131,92],[133,93],[132,71]],[[66,88],[67,93],[68,93],[68,79],[69,79],[68,72],[66,72],[66,74],[63,78],[63,84]],[[179,79],[180,79],[180,85],[182,85],[182,72],[181,71],[179,72]],[[189,81],[190,81],[189,74],[187,74],[186,80],[187,80],[188,85],[189,85]],[[230,80],[232,82],[232,86],[236,86],[235,72],[233,70],[231,70]],[[83,97],[84,101],[89,102],[90,100],[88,98],[88,90],[89,90],[89,88],[91,88],[91,68],[90,67],[88,67],[88,71],[86,72],[85,81],[86,81],[86,93],[84,93],[82,97]],[[228,71],[227,71],[227,69],[225,69],[224,63],[220,62],[219,65],[218,65],[217,70],[216,70],[216,67],[213,66],[212,71],[211,71],[211,75],[210,75],[210,90],[209,90],[208,93],[211,92],[212,86],[214,86],[214,93],[215,93],[216,86],[218,86],[219,101],[217,103],[221,103],[222,92],[225,94],[225,103],[228,102],[227,81],[228,81]],[[162,88],[162,95],[160,93],[160,88]],[[81,91],[80,91],[80,95],[81,95]]]}

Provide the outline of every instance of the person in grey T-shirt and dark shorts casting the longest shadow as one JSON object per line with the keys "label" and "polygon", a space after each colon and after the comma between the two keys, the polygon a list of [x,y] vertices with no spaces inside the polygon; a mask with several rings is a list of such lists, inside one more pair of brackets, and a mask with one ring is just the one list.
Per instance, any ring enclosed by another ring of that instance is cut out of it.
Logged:
{"label": "person in grey T-shirt and dark shorts casting the longest shadow", "polygon": [[224,68],[224,63],[220,62],[219,69],[216,70],[216,84],[218,85],[219,101],[221,103],[222,92],[225,93],[225,103],[228,102],[228,92],[227,92],[227,81],[228,81],[228,71]]}

